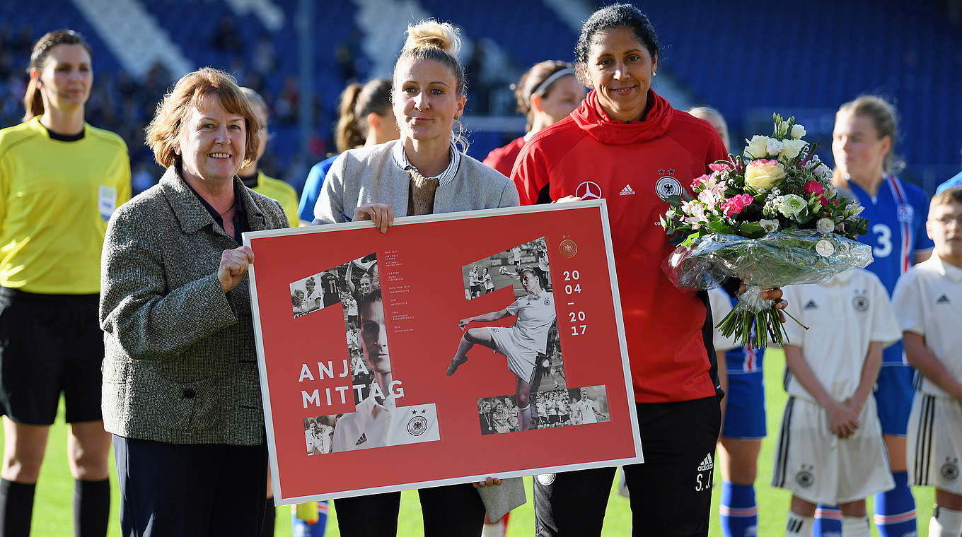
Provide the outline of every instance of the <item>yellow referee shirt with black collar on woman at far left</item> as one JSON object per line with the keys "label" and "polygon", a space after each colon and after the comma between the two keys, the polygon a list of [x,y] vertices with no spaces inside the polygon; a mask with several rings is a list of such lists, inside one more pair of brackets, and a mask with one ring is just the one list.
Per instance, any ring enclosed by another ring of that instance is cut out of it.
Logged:
{"label": "yellow referee shirt with black collar on woman at far left", "polygon": [[61,141],[39,117],[0,130],[0,285],[100,292],[107,222],[129,199],[130,158],[120,136],[85,123],[83,137]]}

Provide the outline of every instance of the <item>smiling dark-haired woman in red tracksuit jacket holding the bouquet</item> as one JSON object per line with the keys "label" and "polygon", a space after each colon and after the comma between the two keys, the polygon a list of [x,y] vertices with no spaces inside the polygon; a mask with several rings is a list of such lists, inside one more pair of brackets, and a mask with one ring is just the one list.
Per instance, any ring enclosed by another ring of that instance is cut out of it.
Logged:
{"label": "smiling dark-haired woman in red tracksuit jacket holding the bouquet", "polygon": [[[575,49],[593,89],[570,116],[531,137],[513,179],[521,204],[604,198],[618,270],[643,464],[626,466],[634,535],[707,535],[721,388],[704,291],[662,273],[672,246],[655,225],[663,200],[725,159],[722,139],[650,85],[658,37],[628,5],[595,12]],[[781,298],[775,289],[767,298]],[[706,331],[707,330],[707,331]],[[537,534],[599,535],[613,468],[539,476]]]}

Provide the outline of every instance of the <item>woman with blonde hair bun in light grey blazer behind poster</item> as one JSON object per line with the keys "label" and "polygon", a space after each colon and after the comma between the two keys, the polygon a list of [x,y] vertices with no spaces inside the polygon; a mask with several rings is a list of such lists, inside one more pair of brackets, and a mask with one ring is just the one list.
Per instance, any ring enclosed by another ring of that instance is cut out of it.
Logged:
{"label": "woman with blonde hair bun in light grey blazer behind poster", "polygon": [[[316,223],[372,220],[388,232],[395,215],[518,205],[514,183],[463,153],[456,124],[467,101],[465,73],[456,56],[460,45],[457,29],[448,23],[425,20],[408,28],[392,78],[392,108],[401,137],[345,151],[335,160],[317,200]],[[368,442],[388,436],[373,432],[390,427],[385,416],[395,408],[393,396],[370,398],[359,403],[370,412],[346,414],[337,425],[366,431]],[[488,484],[497,482],[488,479]],[[471,485],[418,493],[425,535],[481,534],[485,508]],[[399,493],[335,500],[342,535],[396,534],[399,505]]]}

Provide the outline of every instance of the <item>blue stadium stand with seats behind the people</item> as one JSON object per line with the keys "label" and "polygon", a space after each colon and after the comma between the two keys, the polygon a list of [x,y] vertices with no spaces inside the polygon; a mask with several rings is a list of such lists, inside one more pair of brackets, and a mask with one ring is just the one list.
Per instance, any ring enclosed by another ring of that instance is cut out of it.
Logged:
{"label": "blue stadium stand with seats behind the people", "polygon": [[[171,72],[178,66],[225,68],[262,93],[274,118],[262,167],[300,186],[306,171],[295,164],[310,165],[333,151],[336,103],[345,82],[385,74],[380,71],[390,69],[400,44],[394,28],[421,14],[450,20],[464,32],[466,124],[474,131],[468,153],[483,159],[523,125],[508,118],[514,107],[507,85],[536,61],[572,59],[570,6],[578,0],[323,2],[316,3],[311,21],[298,20],[298,0],[124,0],[110,10],[105,4],[0,3],[0,126],[17,123],[22,114],[31,42],[48,30],[73,28],[89,39],[96,59],[89,122],[127,140],[139,190],[159,177],[142,144],[142,126],[170,81],[182,74]],[[585,12],[593,9],[582,4]],[[892,99],[902,114],[897,145],[908,166],[905,179],[932,191],[962,167],[962,142],[955,134],[962,124],[956,87],[962,82],[962,28],[944,4],[820,0],[764,10],[748,0],[638,4],[663,39],[662,72],[692,101],[722,110],[734,140],[769,125],[777,110],[797,115],[830,161],[834,110],[873,92]],[[378,25],[377,13],[392,16]],[[304,106],[297,78],[302,23],[311,29],[314,46],[314,134],[303,159],[297,127]],[[105,36],[108,29],[126,39]]]}

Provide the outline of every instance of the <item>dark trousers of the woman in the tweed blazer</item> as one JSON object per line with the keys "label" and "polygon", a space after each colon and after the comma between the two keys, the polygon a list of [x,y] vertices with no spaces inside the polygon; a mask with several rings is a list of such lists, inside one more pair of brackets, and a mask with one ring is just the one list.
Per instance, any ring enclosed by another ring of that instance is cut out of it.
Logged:
{"label": "dark trousers of the woman in the tweed blazer", "polygon": [[114,435],[124,537],[260,537],[267,447]]}

